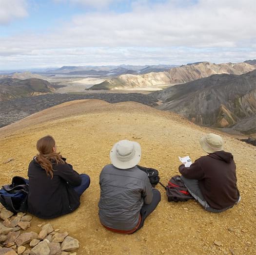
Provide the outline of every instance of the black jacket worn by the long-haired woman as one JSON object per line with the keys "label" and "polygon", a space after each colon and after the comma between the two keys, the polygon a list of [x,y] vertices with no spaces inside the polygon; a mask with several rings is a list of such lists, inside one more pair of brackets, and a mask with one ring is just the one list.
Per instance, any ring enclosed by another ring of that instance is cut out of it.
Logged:
{"label": "black jacket worn by the long-haired woman", "polygon": [[67,163],[54,163],[53,169],[51,179],[35,159],[28,166],[28,212],[41,219],[71,213],[80,205],[79,195],[72,187],[81,184],[79,173]]}

